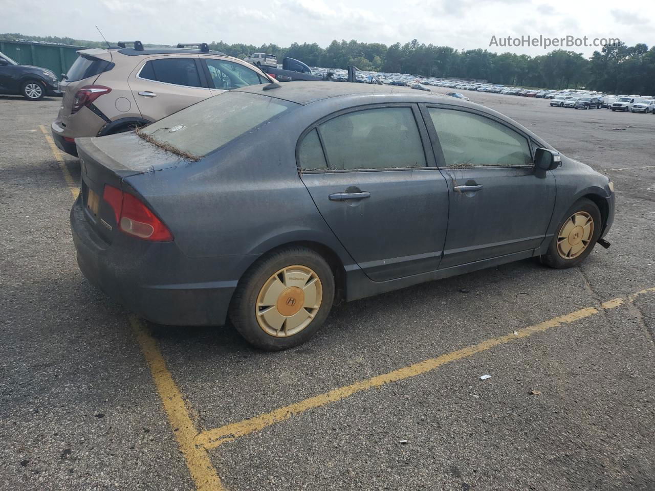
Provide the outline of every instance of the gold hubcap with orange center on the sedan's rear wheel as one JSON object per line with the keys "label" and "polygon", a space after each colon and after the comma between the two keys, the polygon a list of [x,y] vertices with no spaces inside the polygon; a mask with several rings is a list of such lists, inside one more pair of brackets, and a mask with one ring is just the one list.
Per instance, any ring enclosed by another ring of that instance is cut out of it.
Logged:
{"label": "gold hubcap with orange center on the sedan's rear wheel", "polygon": [[266,280],[257,295],[255,314],[265,333],[293,336],[307,327],[323,300],[318,275],[307,266],[286,266]]}

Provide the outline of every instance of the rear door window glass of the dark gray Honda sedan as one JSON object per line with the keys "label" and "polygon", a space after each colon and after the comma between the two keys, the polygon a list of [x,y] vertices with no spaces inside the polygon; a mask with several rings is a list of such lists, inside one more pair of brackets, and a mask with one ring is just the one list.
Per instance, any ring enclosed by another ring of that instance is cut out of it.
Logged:
{"label": "rear door window glass of the dark gray Honda sedan", "polygon": [[329,170],[425,167],[410,107],[381,107],[337,116],[318,126]]}

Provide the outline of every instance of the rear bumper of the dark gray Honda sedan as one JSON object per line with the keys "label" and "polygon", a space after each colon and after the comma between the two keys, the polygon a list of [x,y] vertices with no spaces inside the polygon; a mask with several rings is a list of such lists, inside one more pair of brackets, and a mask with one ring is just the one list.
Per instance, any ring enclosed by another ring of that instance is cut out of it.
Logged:
{"label": "rear bumper of the dark gray Honda sedan", "polygon": [[[205,281],[202,276],[238,261],[233,257],[193,259],[172,242],[153,244],[122,234],[113,244],[106,244],[91,227],[81,199],[71,208],[71,230],[77,264],[91,283],[155,323],[225,323],[237,280]],[[189,281],[193,276],[196,281]]]}

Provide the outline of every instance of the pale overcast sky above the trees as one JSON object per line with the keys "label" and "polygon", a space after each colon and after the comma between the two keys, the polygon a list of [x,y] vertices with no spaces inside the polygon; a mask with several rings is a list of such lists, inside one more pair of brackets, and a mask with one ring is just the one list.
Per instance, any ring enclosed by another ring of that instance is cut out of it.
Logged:
{"label": "pale overcast sky above the trees", "polygon": [[[57,0],[48,8],[0,0],[0,32],[100,41],[318,43],[356,39],[390,45],[418,39],[453,48],[543,54],[539,47],[489,46],[492,36],[619,38],[655,44],[652,0]],[[7,3],[8,2],[8,3]],[[566,48],[589,56],[593,47]]]}

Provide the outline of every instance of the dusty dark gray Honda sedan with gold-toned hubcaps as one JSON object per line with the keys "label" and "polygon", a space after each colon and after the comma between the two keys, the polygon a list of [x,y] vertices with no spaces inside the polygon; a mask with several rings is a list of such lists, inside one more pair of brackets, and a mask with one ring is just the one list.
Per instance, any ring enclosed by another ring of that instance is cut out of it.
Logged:
{"label": "dusty dark gray Honda sedan with gold-toned hubcaps", "polygon": [[528,257],[579,264],[613,186],[481,105],[390,86],[248,86],[76,140],[88,280],[156,323],[282,350],[356,300]]}

